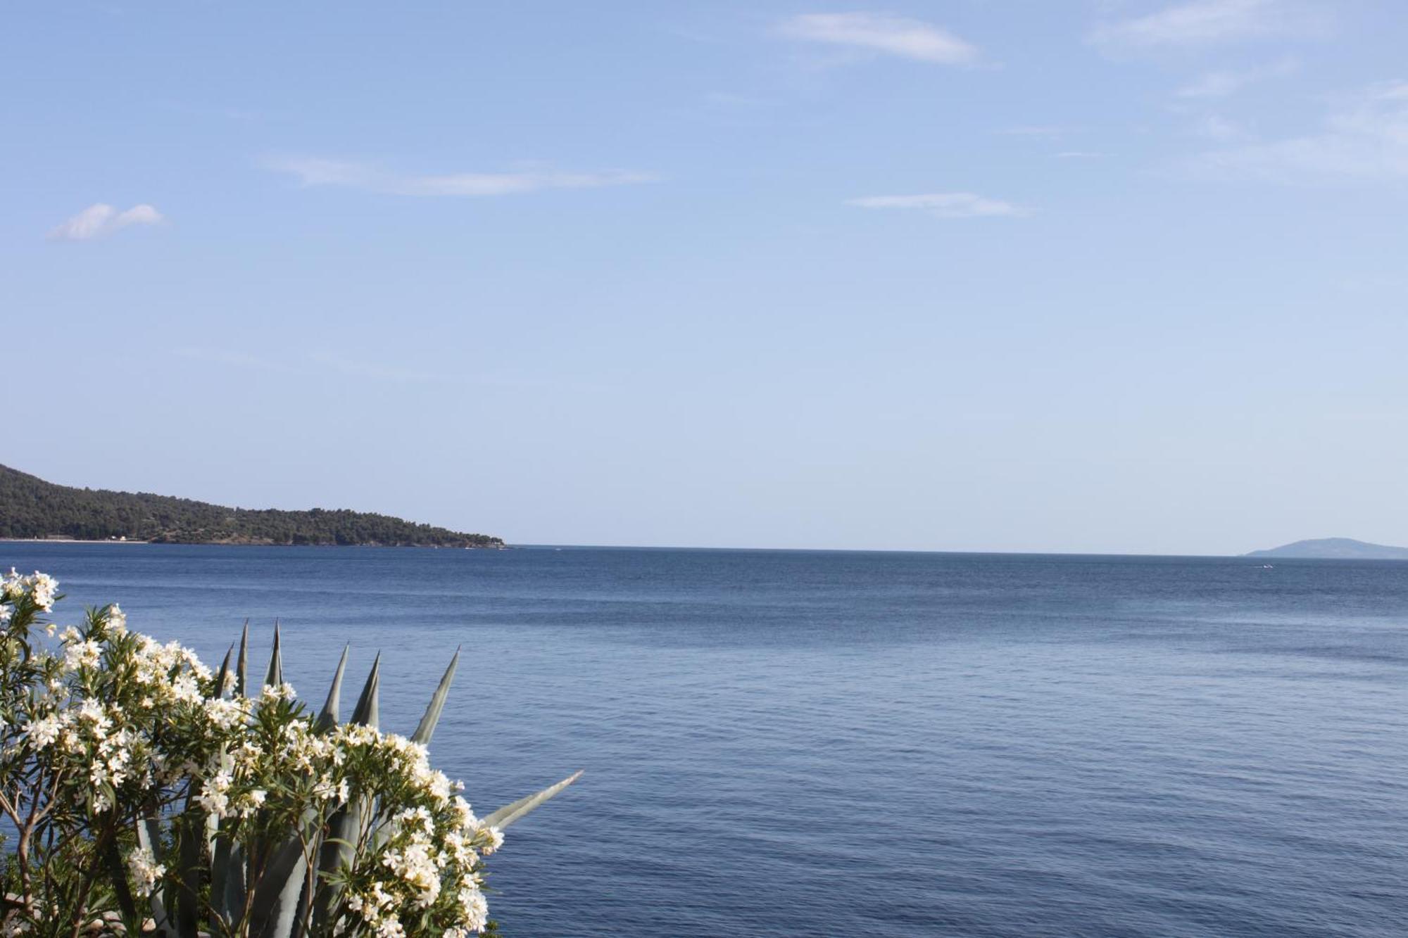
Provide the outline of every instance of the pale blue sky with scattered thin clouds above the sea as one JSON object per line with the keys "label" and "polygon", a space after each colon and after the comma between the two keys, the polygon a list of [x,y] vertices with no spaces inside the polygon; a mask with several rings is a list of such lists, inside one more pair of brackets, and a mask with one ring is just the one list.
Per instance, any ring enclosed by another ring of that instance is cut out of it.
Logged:
{"label": "pale blue sky with scattered thin clouds above the sea", "polygon": [[6,465],[517,544],[1408,544],[1395,0],[0,17]]}

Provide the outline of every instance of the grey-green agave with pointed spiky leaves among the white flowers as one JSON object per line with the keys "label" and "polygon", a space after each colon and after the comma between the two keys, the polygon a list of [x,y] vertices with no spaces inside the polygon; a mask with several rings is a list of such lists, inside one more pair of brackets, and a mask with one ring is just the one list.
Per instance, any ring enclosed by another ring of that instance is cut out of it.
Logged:
{"label": "grey-green agave with pointed spiky leaves among the white flowers", "polygon": [[[227,686],[234,692],[232,699],[258,696],[249,693],[248,652],[246,623],[238,652],[232,645],[215,677],[217,697],[225,697]],[[331,735],[348,727],[377,727],[380,655],[372,663],[351,718],[342,724],[341,696],[346,663],[348,649],[344,648],[327,700],[313,721],[315,734]],[[414,746],[424,748],[429,744],[458,665],[459,649],[451,658],[425,714],[411,734],[408,751],[415,752]],[[265,672],[262,693],[277,696],[282,687],[283,661],[276,624],[273,654]],[[486,831],[491,845],[497,846],[500,831],[556,796],[580,775],[577,772],[479,818],[479,830]],[[151,893],[149,911],[139,908],[138,899],[127,886],[125,870],[120,868],[120,859],[114,853],[113,873],[122,918],[132,923],[146,918],[144,924],[155,925],[156,934],[168,938],[199,938],[206,934],[321,938],[369,932],[362,927],[366,924],[365,913],[356,913],[359,903],[349,896],[349,886],[358,863],[380,856],[377,851],[397,838],[408,820],[404,811],[396,811],[396,804],[384,793],[377,796],[353,784],[346,794],[331,811],[320,813],[306,807],[297,817],[287,817],[280,815],[276,808],[260,807],[246,815],[221,817],[207,810],[208,799],[204,797],[201,784],[193,782],[183,810],[153,813],[137,825],[138,848],[145,851],[144,855],[156,868],[166,872],[162,886]],[[484,852],[490,849],[491,846],[484,848]],[[387,928],[384,934],[421,934],[415,928],[418,924],[429,924],[429,920],[397,920],[394,928],[403,931]]]}

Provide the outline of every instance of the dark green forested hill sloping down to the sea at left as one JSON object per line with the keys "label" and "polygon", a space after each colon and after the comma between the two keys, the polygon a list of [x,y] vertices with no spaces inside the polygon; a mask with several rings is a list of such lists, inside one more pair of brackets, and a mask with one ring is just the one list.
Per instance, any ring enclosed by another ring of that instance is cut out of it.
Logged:
{"label": "dark green forested hill sloping down to the sea at left", "polygon": [[503,538],[460,534],[384,514],[277,511],[56,486],[0,466],[0,538],[127,538],[165,544],[370,544],[501,548]]}

